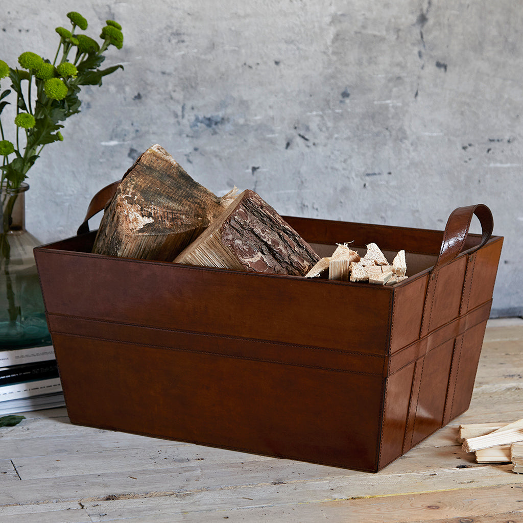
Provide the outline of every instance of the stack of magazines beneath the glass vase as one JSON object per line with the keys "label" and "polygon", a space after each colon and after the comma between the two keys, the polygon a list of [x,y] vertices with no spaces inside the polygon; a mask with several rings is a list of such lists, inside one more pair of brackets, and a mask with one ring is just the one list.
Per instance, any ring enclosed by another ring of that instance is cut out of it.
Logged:
{"label": "stack of magazines beneath the glass vase", "polygon": [[52,345],[0,348],[0,416],[64,405]]}

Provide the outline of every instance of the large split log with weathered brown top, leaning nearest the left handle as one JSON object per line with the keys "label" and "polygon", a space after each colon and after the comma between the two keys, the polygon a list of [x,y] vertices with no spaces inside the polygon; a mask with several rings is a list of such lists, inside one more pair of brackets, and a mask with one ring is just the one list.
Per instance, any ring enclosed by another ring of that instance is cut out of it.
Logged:
{"label": "large split log with weathered brown top, leaning nearest the left handle", "polygon": [[198,184],[163,147],[153,145],[124,174],[93,252],[172,261],[231,201]]}

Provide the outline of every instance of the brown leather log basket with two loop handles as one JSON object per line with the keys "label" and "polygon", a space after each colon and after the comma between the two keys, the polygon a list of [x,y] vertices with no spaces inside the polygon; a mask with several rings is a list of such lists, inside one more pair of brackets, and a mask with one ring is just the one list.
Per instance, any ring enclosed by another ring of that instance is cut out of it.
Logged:
{"label": "brown leather log basket with two loop handles", "polygon": [[320,255],[405,249],[409,277],[101,256],[85,224],[37,247],[71,422],[376,472],[467,410],[503,243],[490,210],[458,208],[445,231],[285,219]]}

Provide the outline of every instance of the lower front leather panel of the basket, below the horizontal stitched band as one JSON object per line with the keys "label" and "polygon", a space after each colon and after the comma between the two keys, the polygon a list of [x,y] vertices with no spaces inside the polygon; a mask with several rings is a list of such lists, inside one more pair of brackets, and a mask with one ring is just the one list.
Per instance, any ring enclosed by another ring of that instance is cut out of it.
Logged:
{"label": "lower front leather panel of the basket, below the horizontal stitched band", "polygon": [[[73,423],[375,471],[383,378],[54,334]],[[198,343],[198,340],[195,340]]]}

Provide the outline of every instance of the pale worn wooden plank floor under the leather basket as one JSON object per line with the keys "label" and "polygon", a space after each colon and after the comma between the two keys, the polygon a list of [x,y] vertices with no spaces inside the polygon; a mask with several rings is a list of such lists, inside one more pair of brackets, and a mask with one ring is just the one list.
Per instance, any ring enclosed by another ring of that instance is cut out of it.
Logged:
{"label": "pale worn wooden plank floor under the leather basket", "polygon": [[64,408],[0,429],[2,523],[523,521],[523,475],[456,442],[523,417],[523,320],[488,322],[469,410],[377,474],[71,425]]}

